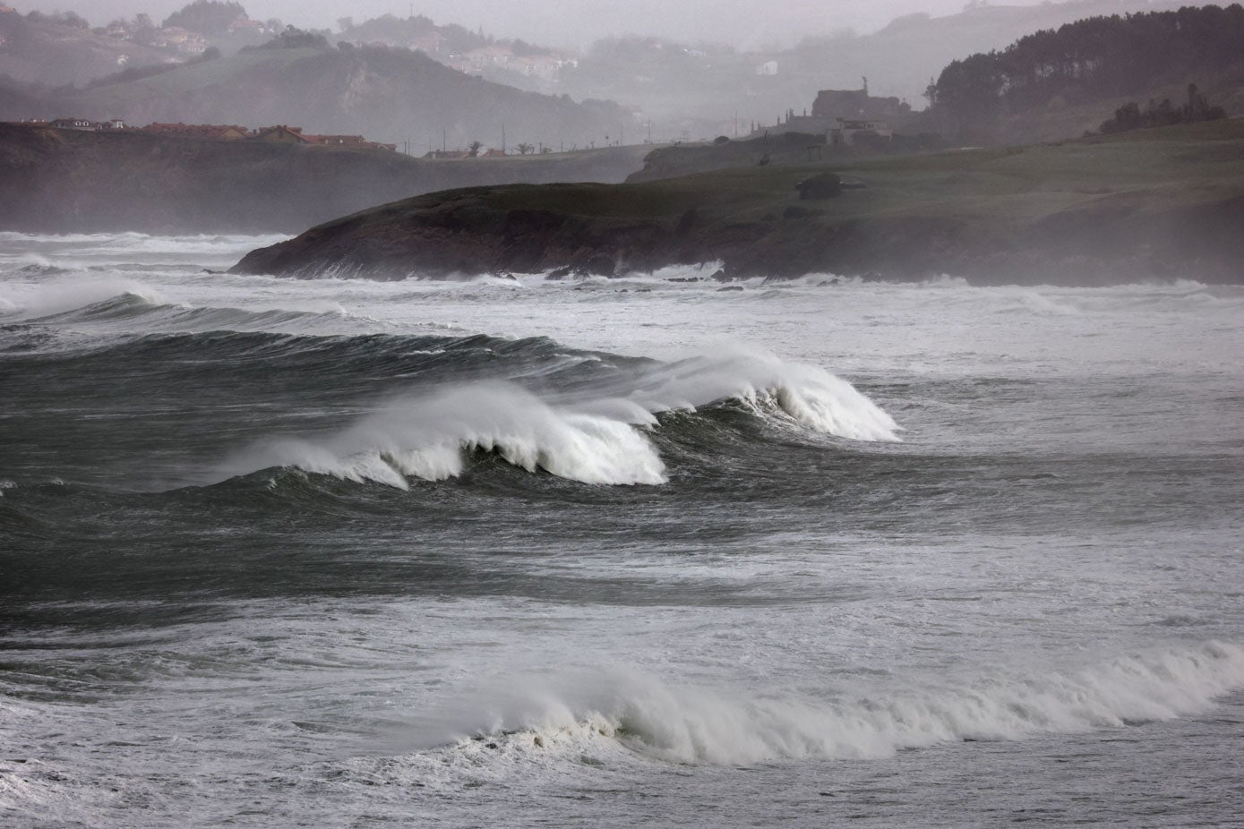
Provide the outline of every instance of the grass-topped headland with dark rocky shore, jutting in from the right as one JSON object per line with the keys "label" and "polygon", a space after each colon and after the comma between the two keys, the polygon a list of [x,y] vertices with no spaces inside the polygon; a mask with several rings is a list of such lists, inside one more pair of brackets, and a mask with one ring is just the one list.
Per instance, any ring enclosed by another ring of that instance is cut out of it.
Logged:
{"label": "grass-topped headland with dark rocky shore, jutting in from the right", "polygon": [[[725,278],[1244,282],[1244,121],[832,164],[435,193],[320,225],[235,270],[612,275],[720,260]],[[795,185],[829,170],[858,189],[800,200]]]}

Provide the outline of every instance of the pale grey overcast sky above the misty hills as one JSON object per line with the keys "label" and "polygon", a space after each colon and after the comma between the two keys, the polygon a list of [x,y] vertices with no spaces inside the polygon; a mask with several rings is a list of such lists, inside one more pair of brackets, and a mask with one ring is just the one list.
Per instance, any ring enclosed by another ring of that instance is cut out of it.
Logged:
{"label": "pale grey overcast sky above the misty hills", "polygon": [[[2,0],[20,11],[72,10],[102,25],[146,11],[157,22],[189,0]],[[791,44],[804,35],[843,29],[868,32],[912,11],[947,15],[965,0],[241,0],[258,20],[336,29],[383,14],[423,14],[437,22],[483,26],[498,37],[522,37],[554,46],[586,46],[607,35],[659,35],[674,40],[714,40],[754,47]],[[1025,5],[1029,0],[998,0]]]}

